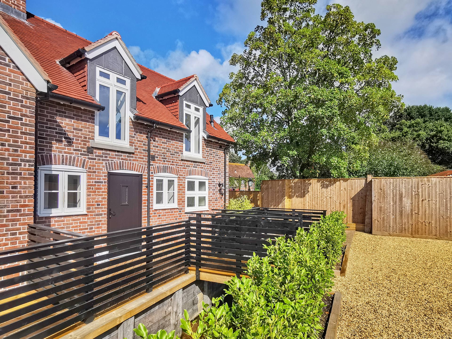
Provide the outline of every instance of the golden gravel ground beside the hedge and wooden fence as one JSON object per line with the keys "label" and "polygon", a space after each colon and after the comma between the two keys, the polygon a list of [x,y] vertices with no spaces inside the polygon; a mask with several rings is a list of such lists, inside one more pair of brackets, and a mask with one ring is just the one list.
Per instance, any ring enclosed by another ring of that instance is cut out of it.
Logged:
{"label": "golden gravel ground beside the hedge and wooden fence", "polygon": [[452,338],[452,241],[355,232],[338,339]]}

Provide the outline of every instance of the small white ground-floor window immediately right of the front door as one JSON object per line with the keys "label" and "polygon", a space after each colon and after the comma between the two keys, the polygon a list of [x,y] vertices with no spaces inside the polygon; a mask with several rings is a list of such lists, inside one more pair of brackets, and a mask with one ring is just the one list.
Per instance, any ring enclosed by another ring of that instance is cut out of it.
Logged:
{"label": "small white ground-floor window immediately right of the front door", "polygon": [[177,208],[177,176],[154,174],[154,208]]}

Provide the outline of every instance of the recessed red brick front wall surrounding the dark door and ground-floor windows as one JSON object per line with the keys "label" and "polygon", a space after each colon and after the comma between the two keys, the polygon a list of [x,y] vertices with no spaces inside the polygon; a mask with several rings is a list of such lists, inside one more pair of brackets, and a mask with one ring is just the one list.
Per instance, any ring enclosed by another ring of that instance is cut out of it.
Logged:
{"label": "recessed red brick front wall surrounding the dark door and ground-floor windows", "polygon": [[[111,169],[132,169],[143,173],[142,222],[146,225],[147,140],[149,126],[130,122],[130,146],[134,154],[94,148],[94,154],[86,153],[89,142],[94,140],[94,111],[56,101],[43,102],[38,112],[38,165],[49,163],[72,164],[85,161],[87,168],[87,214],[63,217],[38,217],[37,222],[80,233],[107,231],[107,177]],[[181,160],[183,134],[157,128],[151,133],[151,161],[153,170],[158,165],[174,167],[178,172],[178,208],[152,208],[153,175],[151,174],[151,225],[185,219],[185,177],[192,169],[204,170],[209,178],[209,208],[222,208],[223,196],[218,183],[224,181],[224,145],[203,140],[205,163]],[[45,155],[44,154],[48,154]],[[50,157],[52,154],[52,160]],[[60,156],[57,157],[56,155]],[[71,158],[61,155],[73,155]],[[113,163],[112,163],[113,162]],[[227,169],[226,169],[227,170]],[[226,181],[227,182],[227,181]],[[227,192],[226,192],[227,193]],[[227,195],[226,195],[227,197]],[[125,227],[127,228],[127,227]]]}

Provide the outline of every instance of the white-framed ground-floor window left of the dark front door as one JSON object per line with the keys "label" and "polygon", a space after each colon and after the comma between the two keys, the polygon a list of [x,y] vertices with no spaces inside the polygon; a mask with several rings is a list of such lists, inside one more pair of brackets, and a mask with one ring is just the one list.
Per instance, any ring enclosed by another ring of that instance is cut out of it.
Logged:
{"label": "white-framed ground-floor window left of the dark front door", "polygon": [[38,168],[39,216],[86,213],[86,170],[74,166]]}

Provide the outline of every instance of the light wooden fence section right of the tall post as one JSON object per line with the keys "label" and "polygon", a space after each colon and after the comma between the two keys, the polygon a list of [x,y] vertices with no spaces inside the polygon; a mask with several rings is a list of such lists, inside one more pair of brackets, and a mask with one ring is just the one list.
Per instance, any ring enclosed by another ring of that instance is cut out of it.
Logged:
{"label": "light wooden fence section right of the tall post", "polygon": [[452,177],[372,181],[372,234],[452,239]]}

